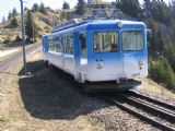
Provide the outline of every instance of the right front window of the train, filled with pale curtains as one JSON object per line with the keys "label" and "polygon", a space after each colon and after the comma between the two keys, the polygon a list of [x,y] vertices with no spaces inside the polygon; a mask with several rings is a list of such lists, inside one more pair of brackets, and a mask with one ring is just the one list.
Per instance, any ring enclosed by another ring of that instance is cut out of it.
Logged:
{"label": "right front window of the train, filled with pale curtains", "polygon": [[143,49],[143,32],[124,31],[122,32],[122,50],[136,51]]}

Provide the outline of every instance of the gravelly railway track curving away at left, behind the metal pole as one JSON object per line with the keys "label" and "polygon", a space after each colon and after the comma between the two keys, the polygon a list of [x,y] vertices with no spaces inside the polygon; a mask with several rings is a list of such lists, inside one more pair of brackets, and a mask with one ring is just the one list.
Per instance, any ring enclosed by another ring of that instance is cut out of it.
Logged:
{"label": "gravelly railway track curving away at left, behind the metal pole", "polygon": [[[26,55],[35,49],[38,49],[39,47],[40,47],[40,44],[26,47]],[[9,58],[0,61],[0,74],[7,73],[5,70],[11,66],[11,63],[19,60],[22,57],[22,55],[23,53],[22,53],[22,49],[21,49],[19,52],[14,53],[13,56],[10,56]]]}

